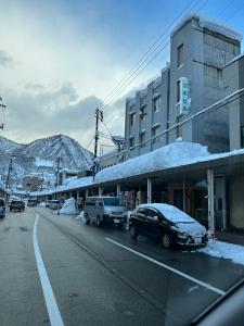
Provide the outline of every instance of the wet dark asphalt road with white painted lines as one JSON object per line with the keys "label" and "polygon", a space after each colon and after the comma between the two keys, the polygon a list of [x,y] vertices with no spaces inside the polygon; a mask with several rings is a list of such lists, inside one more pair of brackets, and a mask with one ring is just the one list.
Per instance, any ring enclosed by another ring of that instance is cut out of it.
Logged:
{"label": "wet dark asphalt road with white painted lines", "polygon": [[49,209],[0,221],[1,326],[189,325],[243,277],[228,260]]}

